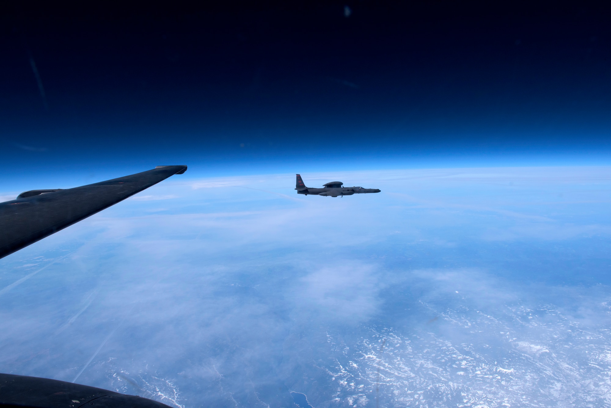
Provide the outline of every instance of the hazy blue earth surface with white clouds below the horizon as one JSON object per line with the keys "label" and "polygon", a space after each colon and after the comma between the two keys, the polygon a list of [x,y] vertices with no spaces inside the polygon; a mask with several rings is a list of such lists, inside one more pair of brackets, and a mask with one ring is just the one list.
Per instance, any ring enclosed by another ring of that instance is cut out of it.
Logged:
{"label": "hazy blue earth surface with white clouds below the horizon", "polygon": [[611,405],[611,168],[187,176],[0,260],[0,371],[176,407]]}

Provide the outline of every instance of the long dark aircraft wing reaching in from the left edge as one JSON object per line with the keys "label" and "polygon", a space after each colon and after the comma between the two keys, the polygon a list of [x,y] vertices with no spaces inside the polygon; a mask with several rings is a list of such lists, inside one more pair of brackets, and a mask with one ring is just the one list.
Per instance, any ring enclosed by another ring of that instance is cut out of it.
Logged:
{"label": "long dark aircraft wing reaching in from the left edge", "polygon": [[0,258],[108,208],[187,166],[157,166],[71,189],[32,190],[0,203]]}

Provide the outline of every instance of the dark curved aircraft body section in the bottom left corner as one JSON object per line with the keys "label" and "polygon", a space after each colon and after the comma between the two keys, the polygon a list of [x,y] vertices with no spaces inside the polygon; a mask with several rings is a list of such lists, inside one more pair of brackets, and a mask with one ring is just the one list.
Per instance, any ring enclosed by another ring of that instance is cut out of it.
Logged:
{"label": "dark curved aircraft body section in the bottom left corner", "polygon": [[169,408],[134,395],[47,378],[0,374],[2,408]]}

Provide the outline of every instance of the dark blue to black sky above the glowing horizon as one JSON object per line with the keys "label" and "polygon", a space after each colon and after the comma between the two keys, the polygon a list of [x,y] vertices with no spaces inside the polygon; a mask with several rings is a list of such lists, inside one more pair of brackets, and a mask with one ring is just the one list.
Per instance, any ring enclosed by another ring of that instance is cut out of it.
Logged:
{"label": "dark blue to black sky above the glowing horizon", "polygon": [[5,180],[609,162],[595,5],[1,7]]}

